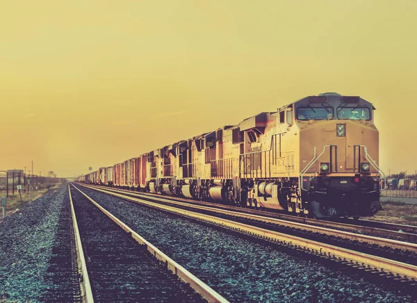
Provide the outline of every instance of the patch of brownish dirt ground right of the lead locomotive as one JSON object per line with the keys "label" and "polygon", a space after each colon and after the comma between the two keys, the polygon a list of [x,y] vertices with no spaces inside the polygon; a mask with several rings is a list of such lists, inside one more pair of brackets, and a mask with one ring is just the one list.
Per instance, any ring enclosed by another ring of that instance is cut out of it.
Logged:
{"label": "patch of brownish dirt ground right of the lead locomotive", "polygon": [[375,217],[366,218],[387,223],[407,224],[417,226],[417,205],[402,202],[381,202],[382,211]]}

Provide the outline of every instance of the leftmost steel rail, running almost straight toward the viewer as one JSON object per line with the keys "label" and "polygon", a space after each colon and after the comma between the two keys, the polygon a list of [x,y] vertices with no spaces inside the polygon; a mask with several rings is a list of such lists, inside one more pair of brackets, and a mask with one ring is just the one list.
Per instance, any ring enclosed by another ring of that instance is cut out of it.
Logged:
{"label": "leftmost steel rail, running almost straight toward the viewer", "polygon": [[72,224],[74,226],[77,263],[79,265],[79,272],[81,272],[81,277],[79,278],[80,284],[81,284],[81,297],[82,297],[83,302],[92,303],[94,302],[94,298],[92,296],[90,278],[88,277],[87,264],[85,263],[83,245],[81,243],[81,236],[80,236],[78,224],[76,222],[74,204],[72,203],[70,184],[68,184],[68,195],[70,195],[70,207],[71,207],[71,214],[72,214]]}

